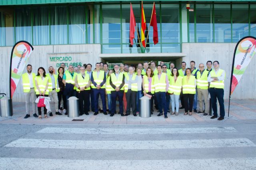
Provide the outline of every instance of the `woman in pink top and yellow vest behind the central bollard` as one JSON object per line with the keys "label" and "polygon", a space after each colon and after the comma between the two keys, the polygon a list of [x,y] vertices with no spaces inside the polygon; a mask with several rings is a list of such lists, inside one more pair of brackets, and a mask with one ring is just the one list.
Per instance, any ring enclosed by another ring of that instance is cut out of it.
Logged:
{"label": "woman in pink top and yellow vest behind the central bollard", "polygon": [[153,70],[151,68],[148,68],[146,70],[147,74],[143,75],[142,77],[142,87],[143,87],[143,93],[144,96],[151,95],[150,98],[150,111],[151,115],[153,114],[153,99],[154,99],[154,93],[155,93],[155,86],[154,86],[154,74]]}

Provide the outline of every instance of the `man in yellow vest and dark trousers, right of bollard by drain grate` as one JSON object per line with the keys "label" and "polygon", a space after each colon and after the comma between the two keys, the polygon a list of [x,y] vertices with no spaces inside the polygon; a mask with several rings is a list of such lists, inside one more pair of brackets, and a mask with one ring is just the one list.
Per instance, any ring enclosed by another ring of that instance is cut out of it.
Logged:
{"label": "man in yellow vest and dark trousers, right of bollard by drain grate", "polygon": [[85,67],[81,66],[80,73],[76,75],[75,86],[77,91],[77,97],[79,99],[79,111],[80,116],[89,115],[90,109],[90,86],[91,80],[87,73],[85,73]]}

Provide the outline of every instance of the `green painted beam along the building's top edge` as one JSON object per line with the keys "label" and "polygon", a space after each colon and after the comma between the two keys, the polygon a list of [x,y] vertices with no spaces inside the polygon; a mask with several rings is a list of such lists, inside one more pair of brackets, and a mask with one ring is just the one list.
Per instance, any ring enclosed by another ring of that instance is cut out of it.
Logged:
{"label": "green painted beam along the building's top edge", "polygon": [[[121,2],[138,2],[138,0],[121,0]],[[154,2],[144,0],[144,2]],[[177,0],[162,0],[162,2],[177,2]],[[180,0],[187,2],[187,0]],[[196,2],[212,2],[212,0],[194,0]],[[120,0],[0,0],[1,5],[31,5],[31,4],[61,4],[61,3],[83,3],[83,2],[120,2]],[[256,0],[214,0],[214,2],[256,2]]]}

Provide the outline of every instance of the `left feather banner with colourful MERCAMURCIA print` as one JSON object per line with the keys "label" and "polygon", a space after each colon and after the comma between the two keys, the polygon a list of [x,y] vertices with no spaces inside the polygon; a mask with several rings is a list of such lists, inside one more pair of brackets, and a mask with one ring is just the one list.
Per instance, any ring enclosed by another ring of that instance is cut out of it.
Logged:
{"label": "left feather banner with colourful MERCAMURCIA print", "polygon": [[12,48],[11,55],[11,76],[10,76],[10,93],[11,99],[14,94],[14,91],[19,83],[20,77],[24,67],[26,66],[26,61],[33,51],[32,45],[26,41],[17,42]]}

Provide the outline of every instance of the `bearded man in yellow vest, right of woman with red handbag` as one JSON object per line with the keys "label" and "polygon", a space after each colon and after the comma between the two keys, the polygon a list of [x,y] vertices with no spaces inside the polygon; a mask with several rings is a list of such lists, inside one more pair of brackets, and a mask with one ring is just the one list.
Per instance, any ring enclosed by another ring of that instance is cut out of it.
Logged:
{"label": "bearded man in yellow vest, right of woman with red handbag", "polygon": [[[58,83],[58,75],[53,74],[53,71],[54,71],[54,68],[52,66],[50,66],[49,67],[49,73],[46,74],[49,77],[49,85],[48,85],[49,97],[50,97],[51,101],[54,101],[54,103],[55,103],[55,114],[56,115],[62,115],[58,111],[58,104],[59,104],[58,91],[60,89],[59,88],[59,83]],[[49,115],[53,116],[52,112],[50,112]]]}

